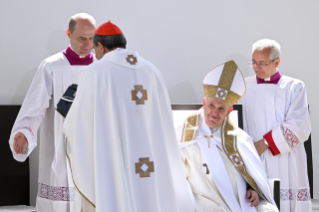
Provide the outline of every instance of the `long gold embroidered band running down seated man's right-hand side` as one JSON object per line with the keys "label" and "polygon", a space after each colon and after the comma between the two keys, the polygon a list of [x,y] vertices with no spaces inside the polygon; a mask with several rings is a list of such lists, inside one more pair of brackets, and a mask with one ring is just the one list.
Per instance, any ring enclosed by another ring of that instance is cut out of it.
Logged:
{"label": "long gold embroidered band running down seated man's right-hand side", "polygon": [[223,149],[229,160],[235,166],[240,175],[245,179],[245,181],[259,194],[260,197],[268,201],[256,184],[255,180],[247,173],[245,163],[242,160],[237,149],[237,136],[229,134],[229,132],[233,130],[234,126],[231,123],[231,120],[228,118],[227,121],[222,124],[222,128],[220,131]]}

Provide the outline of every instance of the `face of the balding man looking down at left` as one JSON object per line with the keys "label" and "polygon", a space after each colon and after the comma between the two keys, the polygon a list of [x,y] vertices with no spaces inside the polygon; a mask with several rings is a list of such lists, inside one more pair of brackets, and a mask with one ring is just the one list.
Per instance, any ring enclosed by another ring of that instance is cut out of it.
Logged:
{"label": "face of the balding man looking down at left", "polygon": [[88,55],[93,48],[94,32],[92,22],[86,19],[77,20],[74,31],[69,36],[73,51],[79,56]]}

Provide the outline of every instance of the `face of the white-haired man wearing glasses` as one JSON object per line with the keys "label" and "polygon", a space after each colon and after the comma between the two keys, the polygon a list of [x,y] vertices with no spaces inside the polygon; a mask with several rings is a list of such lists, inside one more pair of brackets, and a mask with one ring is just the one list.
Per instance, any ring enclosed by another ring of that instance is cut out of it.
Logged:
{"label": "face of the white-haired man wearing glasses", "polygon": [[[275,61],[272,62],[270,59],[270,53],[271,49],[263,49],[261,51],[255,50],[253,55],[252,55],[252,61],[255,63],[253,65],[253,69],[257,75],[257,77],[261,79],[266,79],[271,77],[276,73],[276,68],[279,65],[280,59],[276,59]],[[267,66],[262,66],[258,64],[269,64]]]}

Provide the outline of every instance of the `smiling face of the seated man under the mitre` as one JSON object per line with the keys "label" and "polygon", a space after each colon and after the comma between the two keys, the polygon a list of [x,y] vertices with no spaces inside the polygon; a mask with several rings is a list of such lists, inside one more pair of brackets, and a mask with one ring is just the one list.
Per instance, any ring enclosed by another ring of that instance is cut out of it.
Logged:
{"label": "smiling face of the seated man under the mitre", "polygon": [[209,128],[219,127],[231,112],[231,106],[213,98],[204,98],[205,122]]}

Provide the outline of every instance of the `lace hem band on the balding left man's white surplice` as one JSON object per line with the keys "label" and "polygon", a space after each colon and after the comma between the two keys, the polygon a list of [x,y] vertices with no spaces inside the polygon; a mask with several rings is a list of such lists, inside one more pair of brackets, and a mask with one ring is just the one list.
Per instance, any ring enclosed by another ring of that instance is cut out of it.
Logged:
{"label": "lace hem band on the balding left man's white surplice", "polygon": [[52,201],[74,201],[75,187],[55,187],[43,183],[38,184],[38,197]]}

